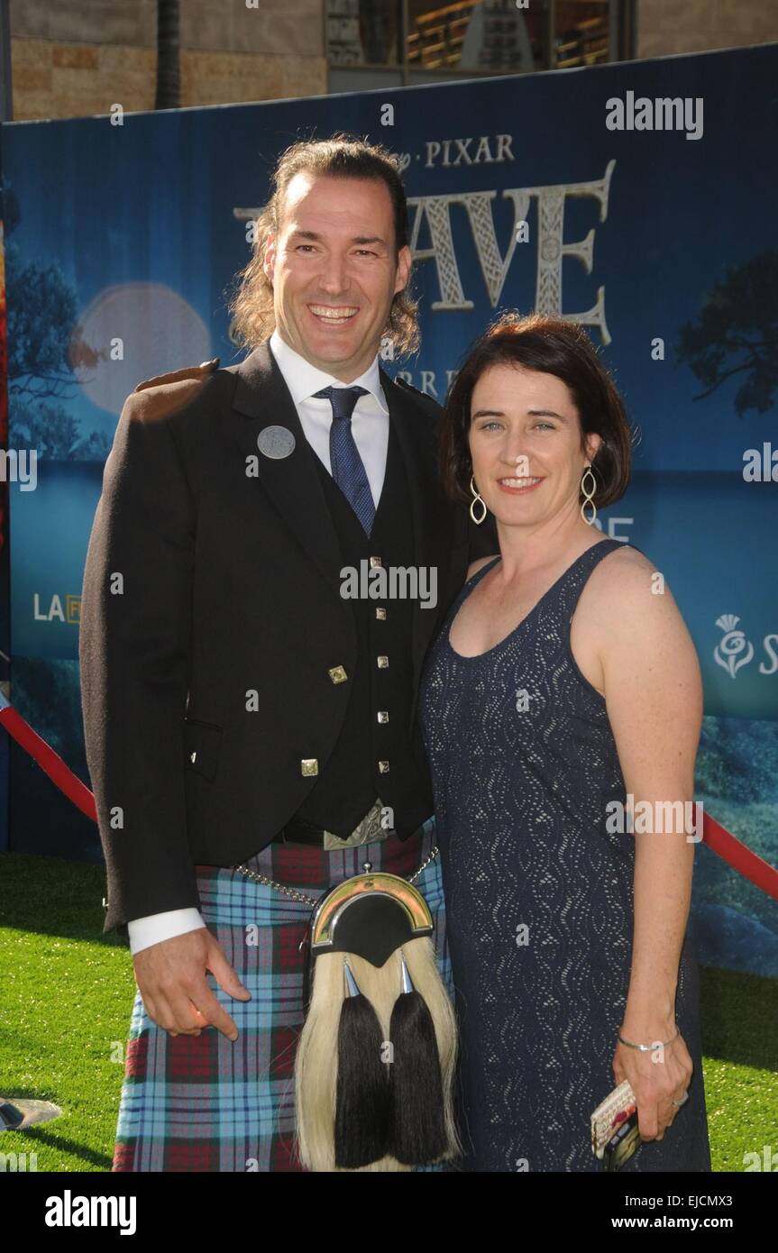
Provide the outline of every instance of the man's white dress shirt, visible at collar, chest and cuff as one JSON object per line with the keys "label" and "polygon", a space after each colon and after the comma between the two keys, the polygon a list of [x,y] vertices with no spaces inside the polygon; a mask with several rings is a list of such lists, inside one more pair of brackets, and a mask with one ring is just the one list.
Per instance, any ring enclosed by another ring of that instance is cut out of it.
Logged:
{"label": "man's white dress shirt, visible at collar, chest and cuff", "polygon": [[[365,387],[367,396],[357,397],[351,430],[365,465],[373,505],[377,509],[386,474],[390,435],[388,406],[378,375],[378,355],[376,353],[363,375],[360,375],[351,383],[343,383],[340,378],[335,378],[333,375],[326,373],[301,357],[281,338],[278,331],[273,331],[269,347],[294,401],[303,434],[328,474],[332,474],[329,461],[332,405],[328,400],[316,398],[313,392],[321,391],[322,387]],[[173,936],[185,935],[187,931],[197,931],[204,926],[199,910],[194,907],[167,910],[164,913],[149,913],[143,918],[133,918],[127,923],[130,952],[134,956],[162,940],[172,940]]]}

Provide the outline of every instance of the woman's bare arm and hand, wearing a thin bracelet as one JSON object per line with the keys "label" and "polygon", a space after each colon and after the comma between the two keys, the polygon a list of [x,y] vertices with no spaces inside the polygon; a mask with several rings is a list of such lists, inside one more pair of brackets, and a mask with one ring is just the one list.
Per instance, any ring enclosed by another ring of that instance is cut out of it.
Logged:
{"label": "woman's bare arm and hand, wearing a thin bracelet", "polygon": [[[664,1042],[677,1030],[692,893],[702,680],[683,618],[650,563],[625,550],[600,570],[603,687],[635,821],[633,964],[620,1034],[636,1044]],[[656,1054],[618,1044],[614,1073],[629,1079],[638,1096],[641,1135],[660,1138],[692,1074],[683,1040]]]}

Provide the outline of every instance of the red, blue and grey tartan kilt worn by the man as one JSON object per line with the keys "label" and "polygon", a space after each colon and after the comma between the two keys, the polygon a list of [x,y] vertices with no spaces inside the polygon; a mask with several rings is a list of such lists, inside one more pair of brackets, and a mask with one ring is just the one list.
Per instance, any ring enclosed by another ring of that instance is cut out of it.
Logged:
{"label": "red, blue and grey tartan kilt worn by the man", "polygon": [[[318,897],[361,873],[366,860],[373,871],[407,877],[433,845],[432,817],[406,841],[390,834],[338,852],[272,843],[244,865]],[[208,986],[238,1027],[232,1044],[215,1027],[170,1037],[135,994],[112,1170],[302,1172],[293,1152],[294,1053],[303,1026],[306,955],[299,944],[312,907],[231,867],[195,871],[203,918],[252,999],[233,1000],[207,972]],[[440,857],[415,883],[430,906],[438,969],[454,999]]]}

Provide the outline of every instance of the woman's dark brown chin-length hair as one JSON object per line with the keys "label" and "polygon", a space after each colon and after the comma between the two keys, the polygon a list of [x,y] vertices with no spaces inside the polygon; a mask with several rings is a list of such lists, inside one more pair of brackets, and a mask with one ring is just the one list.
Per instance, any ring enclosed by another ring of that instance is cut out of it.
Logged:
{"label": "woman's dark brown chin-length hair", "polygon": [[440,472],[447,495],[461,504],[472,500],[470,408],[475,386],[490,366],[524,366],[561,378],[579,413],[581,447],[591,432],[603,439],[591,461],[594,504],[603,509],[620,500],[629,482],[631,432],[624,402],[591,340],[576,322],[541,313],[521,317],[515,311],[504,313],[476,340],[449,392],[440,434]]}

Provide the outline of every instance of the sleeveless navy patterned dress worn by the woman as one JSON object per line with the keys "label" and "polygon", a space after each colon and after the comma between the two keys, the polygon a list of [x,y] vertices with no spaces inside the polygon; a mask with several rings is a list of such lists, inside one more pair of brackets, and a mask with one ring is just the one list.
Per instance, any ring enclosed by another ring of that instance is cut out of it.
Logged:
{"label": "sleeveless navy patterned dress worn by the woman", "polygon": [[[449,630],[422,677],[420,714],[435,789],[446,930],[461,1027],[460,1100],[470,1170],[598,1172],[590,1114],[615,1086],[629,987],[634,836],[608,833],[625,788],[604,698],[570,650],[594,566],[586,550],[524,621],[479,657]],[[687,935],[677,1020],[694,1064],[689,1100],[625,1172],[710,1170]]]}

